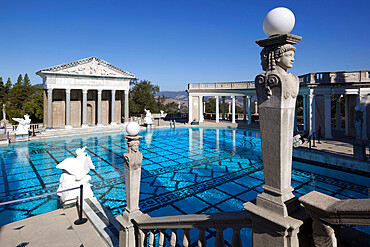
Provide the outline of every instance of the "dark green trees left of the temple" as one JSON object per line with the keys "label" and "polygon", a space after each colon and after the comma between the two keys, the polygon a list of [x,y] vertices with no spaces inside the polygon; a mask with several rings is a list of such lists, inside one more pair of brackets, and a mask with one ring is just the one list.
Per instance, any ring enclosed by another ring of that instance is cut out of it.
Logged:
{"label": "dark green trees left of the temple", "polygon": [[[33,123],[43,121],[42,89],[32,86],[27,73],[18,76],[17,82],[12,84],[10,78],[4,83],[0,77],[0,103],[5,104],[5,112],[10,123],[15,124],[12,118],[23,118],[28,114]],[[0,113],[3,119],[3,112]]]}

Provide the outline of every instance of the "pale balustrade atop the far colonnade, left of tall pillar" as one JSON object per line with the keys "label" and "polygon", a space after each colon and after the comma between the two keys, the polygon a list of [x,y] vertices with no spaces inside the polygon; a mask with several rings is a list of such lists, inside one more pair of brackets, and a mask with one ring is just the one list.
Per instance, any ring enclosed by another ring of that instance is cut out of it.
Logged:
{"label": "pale balustrade atop the far colonnade, left of tall pillar", "polygon": [[255,89],[254,81],[241,82],[214,82],[214,83],[189,83],[188,89],[219,90],[219,89]]}

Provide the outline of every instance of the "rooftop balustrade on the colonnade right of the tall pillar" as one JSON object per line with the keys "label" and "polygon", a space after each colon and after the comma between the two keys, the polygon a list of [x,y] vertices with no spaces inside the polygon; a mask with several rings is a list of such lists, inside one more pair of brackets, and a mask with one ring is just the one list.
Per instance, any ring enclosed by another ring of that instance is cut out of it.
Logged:
{"label": "rooftop balustrade on the colonnade right of the tall pillar", "polygon": [[301,83],[369,83],[370,71],[309,73],[299,76]]}

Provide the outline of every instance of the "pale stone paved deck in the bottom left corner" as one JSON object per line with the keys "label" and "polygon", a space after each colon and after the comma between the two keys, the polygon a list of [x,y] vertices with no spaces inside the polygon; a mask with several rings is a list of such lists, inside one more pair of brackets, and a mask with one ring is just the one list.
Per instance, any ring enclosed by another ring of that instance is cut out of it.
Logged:
{"label": "pale stone paved deck in the bottom left corner", "polygon": [[106,246],[89,221],[75,225],[75,207],[58,209],[0,227],[0,246]]}

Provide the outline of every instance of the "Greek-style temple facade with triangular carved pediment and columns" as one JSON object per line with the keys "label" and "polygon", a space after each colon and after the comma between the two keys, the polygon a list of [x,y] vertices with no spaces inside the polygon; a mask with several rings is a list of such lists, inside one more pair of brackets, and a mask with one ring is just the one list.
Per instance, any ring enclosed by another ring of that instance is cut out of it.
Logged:
{"label": "Greek-style temple facade with triangular carved pediment and columns", "polygon": [[44,126],[115,125],[129,119],[129,87],[135,76],[100,58],[42,69]]}

